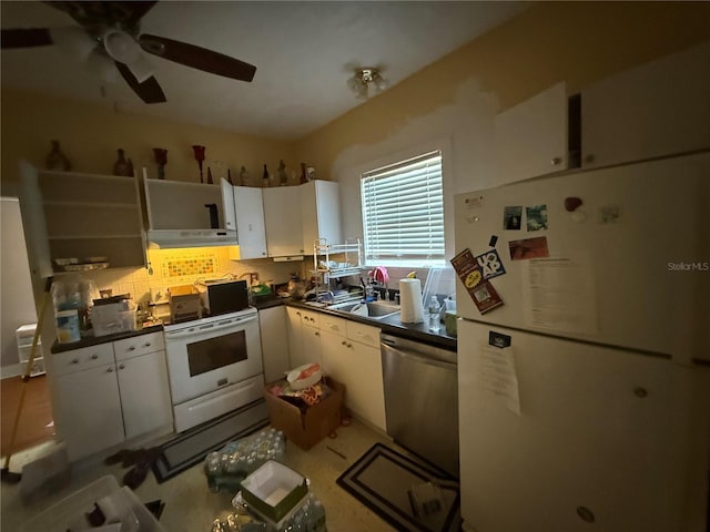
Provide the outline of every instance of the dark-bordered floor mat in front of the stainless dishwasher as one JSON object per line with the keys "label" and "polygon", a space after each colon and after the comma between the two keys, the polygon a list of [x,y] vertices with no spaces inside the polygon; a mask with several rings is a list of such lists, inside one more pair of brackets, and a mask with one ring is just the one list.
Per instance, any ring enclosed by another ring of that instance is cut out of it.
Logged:
{"label": "dark-bordered floor mat in front of the stainless dishwasher", "polygon": [[[341,474],[337,484],[397,530],[460,530],[458,482],[382,443],[375,443]],[[413,500],[413,492],[428,493],[429,498]]]}

